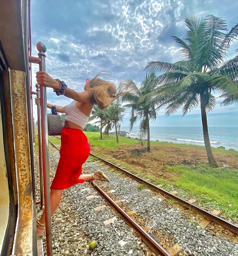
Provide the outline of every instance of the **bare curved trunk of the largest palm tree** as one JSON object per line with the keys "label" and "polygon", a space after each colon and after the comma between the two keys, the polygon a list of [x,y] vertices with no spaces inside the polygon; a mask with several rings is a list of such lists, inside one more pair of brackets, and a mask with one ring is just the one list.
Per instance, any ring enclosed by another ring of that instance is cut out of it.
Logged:
{"label": "bare curved trunk of the largest palm tree", "polygon": [[200,93],[200,101],[201,101],[201,116],[202,116],[202,126],[203,126],[203,139],[204,139],[209,166],[213,168],[217,168],[218,167],[217,162],[212,154],[212,149],[211,149],[211,144],[210,144],[210,139],[208,134],[208,127],[207,127],[205,99],[202,93]]}

